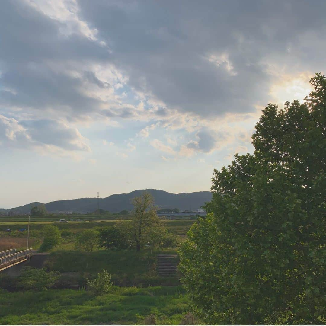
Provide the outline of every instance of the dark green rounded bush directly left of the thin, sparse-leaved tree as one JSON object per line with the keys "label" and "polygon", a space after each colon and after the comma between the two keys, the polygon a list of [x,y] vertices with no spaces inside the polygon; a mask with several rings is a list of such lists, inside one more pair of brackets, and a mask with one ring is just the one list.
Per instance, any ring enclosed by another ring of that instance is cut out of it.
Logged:
{"label": "dark green rounded bush directly left of the thin, sparse-leaved tree", "polygon": [[99,238],[100,244],[106,249],[122,250],[131,248],[131,241],[126,234],[122,223],[101,229]]}

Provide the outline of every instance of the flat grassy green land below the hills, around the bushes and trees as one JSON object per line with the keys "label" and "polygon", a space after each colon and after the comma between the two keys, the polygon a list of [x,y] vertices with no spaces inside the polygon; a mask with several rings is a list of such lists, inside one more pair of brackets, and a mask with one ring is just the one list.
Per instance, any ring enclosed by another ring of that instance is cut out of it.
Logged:
{"label": "flat grassy green land below the hills, around the bushes and trees", "polygon": [[[42,244],[42,228],[45,226],[56,226],[60,230],[62,241],[49,250],[44,263],[47,270],[59,272],[60,279],[52,289],[21,292],[16,289],[16,278],[0,274],[0,324],[131,325],[148,323],[146,318],[151,314],[158,324],[179,324],[190,309],[180,275],[159,276],[156,259],[160,253],[177,253],[176,248],[144,248],[140,252],[102,247],[85,252],[76,248],[75,242],[81,232],[113,226],[121,217],[127,220],[130,215],[78,216],[79,221],[70,221],[72,216],[32,217],[29,243],[33,248],[38,249]],[[60,223],[61,218],[67,219],[68,223]],[[193,222],[164,220],[164,225],[177,235],[180,243]],[[8,246],[24,249],[27,231],[20,230],[27,228],[26,216],[2,217],[0,250]],[[94,296],[81,290],[88,278],[94,278],[103,269],[111,275],[114,285],[110,293]]]}

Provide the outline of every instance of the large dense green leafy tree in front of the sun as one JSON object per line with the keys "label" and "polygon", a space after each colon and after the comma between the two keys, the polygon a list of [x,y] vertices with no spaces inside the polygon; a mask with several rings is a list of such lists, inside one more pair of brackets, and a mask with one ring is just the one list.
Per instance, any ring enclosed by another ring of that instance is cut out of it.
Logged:
{"label": "large dense green leafy tree in front of the sun", "polygon": [[284,109],[268,104],[254,155],[214,170],[209,212],[180,269],[195,312],[219,324],[325,324],[326,79]]}

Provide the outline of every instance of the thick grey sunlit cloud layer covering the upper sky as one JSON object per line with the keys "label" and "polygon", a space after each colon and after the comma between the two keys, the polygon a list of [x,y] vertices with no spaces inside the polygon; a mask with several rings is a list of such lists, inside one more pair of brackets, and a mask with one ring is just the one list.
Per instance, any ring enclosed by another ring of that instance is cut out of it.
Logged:
{"label": "thick grey sunlit cloud layer covering the upper sky", "polygon": [[90,153],[80,130],[101,122],[133,130],[121,157],[138,150],[130,137],[175,158],[243,151],[259,108],[301,96],[325,65],[325,1],[0,6],[5,149]]}

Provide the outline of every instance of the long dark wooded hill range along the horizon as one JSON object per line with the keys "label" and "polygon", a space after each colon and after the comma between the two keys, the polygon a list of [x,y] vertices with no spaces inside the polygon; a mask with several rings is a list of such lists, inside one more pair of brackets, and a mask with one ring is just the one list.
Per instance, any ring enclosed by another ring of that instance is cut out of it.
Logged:
{"label": "long dark wooded hill range along the horizon", "polygon": [[[159,208],[179,208],[180,211],[184,210],[197,210],[205,202],[212,199],[210,191],[197,191],[190,193],[172,194],[163,190],[156,189],[143,189],[134,190],[128,194],[111,195],[106,198],[99,199],[101,209],[111,213],[120,212],[122,210],[132,210],[133,206],[131,200],[140,196],[142,192],[147,191],[155,198],[155,205]],[[40,202],[33,202],[24,206],[13,208],[15,213],[28,213],[33,206],[41,204]],[[97,198],[79,198],[71,200],[56,200],[45,204],[45,207],[50,213],[60,212],[78,212],[88,213],[96,210]],[[1,211],[1,209],[0,209]],[[3,210],[8,212],[9,210]]]}

